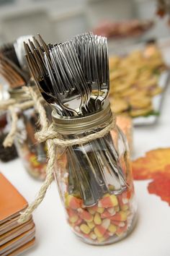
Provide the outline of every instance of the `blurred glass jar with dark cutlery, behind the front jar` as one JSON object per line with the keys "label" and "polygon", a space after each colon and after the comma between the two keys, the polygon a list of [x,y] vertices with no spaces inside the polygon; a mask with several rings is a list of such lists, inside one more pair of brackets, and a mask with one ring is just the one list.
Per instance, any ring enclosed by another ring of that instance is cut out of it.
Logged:
{"label": "blurred glass jar with dark cutlery, behind the front jar", "polygon": [[[22,88],[10,90],[9,93],[11,98],[17,99],[19,103],[30,100]],[[24,111],[18,110],[18,116],[17,135],[14,142],[18,155],[29,174],[36,179],[44,180],[47,149],[45,143],[39,143],[35,140],[35,132],[40,129],[38,114],[34,107],[30,107]]]}

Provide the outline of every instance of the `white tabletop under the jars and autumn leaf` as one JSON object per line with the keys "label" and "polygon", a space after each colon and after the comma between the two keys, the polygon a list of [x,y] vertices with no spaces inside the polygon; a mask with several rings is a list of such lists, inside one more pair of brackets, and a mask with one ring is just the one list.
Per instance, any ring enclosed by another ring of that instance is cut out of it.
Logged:
{"label": "white tabletop under the jars and autumn leaf", "polygon": [[[170,61],[170,48],[165,57]],[[143,156],[147,150],[170,147],[170,87],[166,90],[158,123],[149,127],[134,128],[133,158]],[[19,159],[0,163],[1,172],[24,195],[28,202],[34,200],[41,182],[32,179]],[[121,242],[97,247],[84,244],[71,232],[66,223],[63,206],[55,182],[48,189],[45,200],[35,210],[35,247],[22,256],[169,256],[170,207],[156,195],[147,191],[149,181],[135,182],[138,201],[138,223],[134,231]]]}

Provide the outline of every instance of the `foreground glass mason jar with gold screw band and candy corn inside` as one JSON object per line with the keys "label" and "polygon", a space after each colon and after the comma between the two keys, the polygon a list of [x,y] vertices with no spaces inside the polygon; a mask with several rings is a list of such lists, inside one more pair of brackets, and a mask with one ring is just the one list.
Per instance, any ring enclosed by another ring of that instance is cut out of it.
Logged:
{"label": "foreground glass mason jar with gold screw band and candy corn inside", "polygon": [[[102,111],[76,118],[53,111],[56,131],[65,139],[95,135],[112,122],[109,103]],[[89,244],[111,244],[132,231],[136,202],[128,143],[120,128],[83,145],[57,147],[55,179],[68,224]]]}

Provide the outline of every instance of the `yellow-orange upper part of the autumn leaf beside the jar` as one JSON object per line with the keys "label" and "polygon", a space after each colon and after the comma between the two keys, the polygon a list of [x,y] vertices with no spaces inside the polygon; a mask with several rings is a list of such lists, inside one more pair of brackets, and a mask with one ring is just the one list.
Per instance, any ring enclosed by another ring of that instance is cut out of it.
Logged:
{"label": "yellow-orange upper part of the autumn leaf beside the jar", "polygon": [[158,148],[146,153],[143,158],[133,161],[134,179],[152,179],[155,174],[169,173],[170,148]]}

